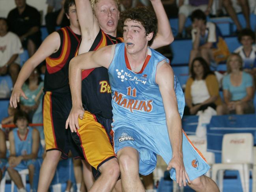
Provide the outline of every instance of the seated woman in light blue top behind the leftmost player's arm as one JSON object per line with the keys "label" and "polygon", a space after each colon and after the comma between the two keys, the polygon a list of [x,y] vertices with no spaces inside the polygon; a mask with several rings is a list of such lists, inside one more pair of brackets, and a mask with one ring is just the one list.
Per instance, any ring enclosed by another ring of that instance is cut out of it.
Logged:
{"label": "seated woman in light blue top behind the leftmost player's arm", "polygon": [[41,80],[38,68],[32,71],[22,86],[22,91],[26,97],[21,97],[20,108],[28,114],[29,122],[32,122],[33,115],[43,97],[43,81]]}

